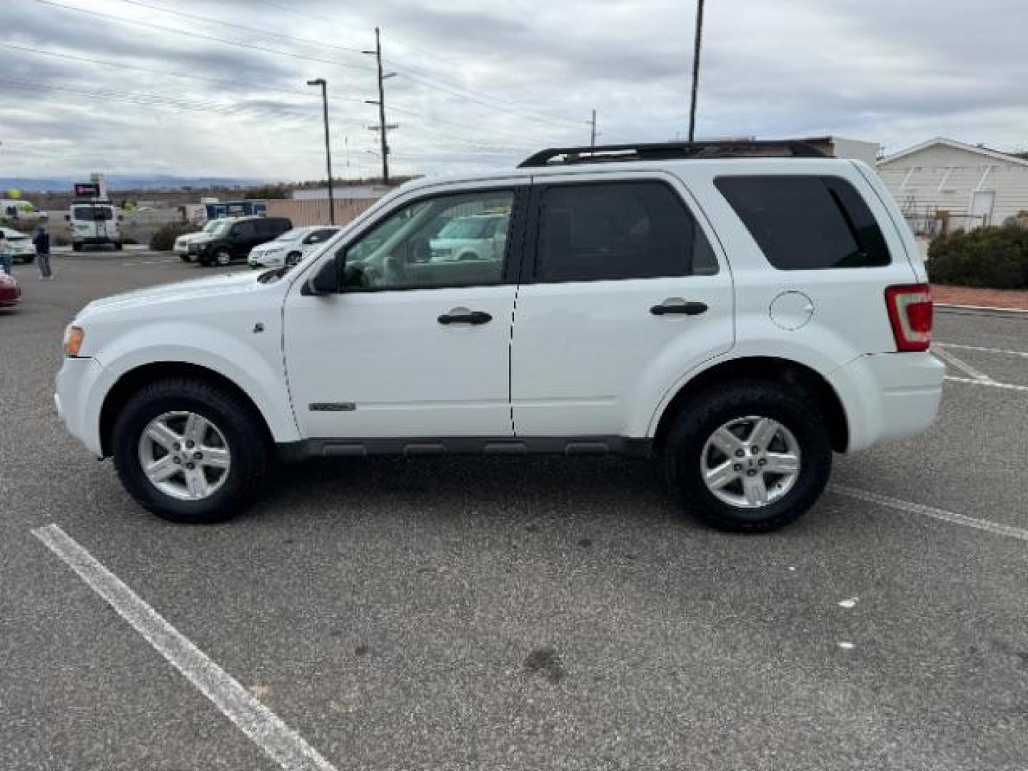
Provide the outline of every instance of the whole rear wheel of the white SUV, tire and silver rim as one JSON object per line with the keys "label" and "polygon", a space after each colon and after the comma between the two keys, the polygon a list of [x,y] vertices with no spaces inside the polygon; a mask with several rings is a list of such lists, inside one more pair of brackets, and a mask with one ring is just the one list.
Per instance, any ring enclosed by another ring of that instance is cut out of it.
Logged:
{"label": "whole rear wheel of the white SUV, tire and silver rim", "polygon": [[720,529],[769,533],[820,497],[832,444],[795,390],[746,381],[707,391],[678,415],[665,445],[669,481],[690,513]]}

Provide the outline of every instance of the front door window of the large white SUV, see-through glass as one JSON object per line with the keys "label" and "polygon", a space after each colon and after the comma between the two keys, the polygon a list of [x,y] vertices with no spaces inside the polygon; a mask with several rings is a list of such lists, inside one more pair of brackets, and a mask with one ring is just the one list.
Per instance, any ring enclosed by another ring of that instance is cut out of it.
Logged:
{"label": "front door window of the large white SUV, see-through glass", "polygon": [[[343,286],[347,291],[374,291],[502,284],[513,205],[511,190],[410,204],[346,247]],[[503,227],[485,236],[480,222],[485,219],[502,221]],[[464,224],[469,222],[474,227]]]}

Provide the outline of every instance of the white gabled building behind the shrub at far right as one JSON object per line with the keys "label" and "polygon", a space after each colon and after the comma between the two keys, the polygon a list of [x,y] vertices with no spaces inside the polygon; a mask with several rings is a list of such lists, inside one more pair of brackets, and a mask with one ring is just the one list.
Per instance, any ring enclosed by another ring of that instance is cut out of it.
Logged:
{"label": "white gabled building behind the shrub at far right", "polygon": [[1028,160],[937,138],[878,162],[915,232],[1001,225],[1028,210]]}

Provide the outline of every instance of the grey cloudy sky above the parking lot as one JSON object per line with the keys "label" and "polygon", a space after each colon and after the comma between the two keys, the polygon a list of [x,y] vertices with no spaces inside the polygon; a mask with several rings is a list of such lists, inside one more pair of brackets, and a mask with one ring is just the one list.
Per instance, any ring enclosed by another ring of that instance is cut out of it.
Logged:
{"label": "grey cloudy sky above the parking lot", "polygon": [[[688,127],[695,0],[0,0],[0,184],[90,171],[324,177]],[[707,0],[697,134],[1028,147],[1025,0]],[[348,158],[348,170],[347,170]]]}

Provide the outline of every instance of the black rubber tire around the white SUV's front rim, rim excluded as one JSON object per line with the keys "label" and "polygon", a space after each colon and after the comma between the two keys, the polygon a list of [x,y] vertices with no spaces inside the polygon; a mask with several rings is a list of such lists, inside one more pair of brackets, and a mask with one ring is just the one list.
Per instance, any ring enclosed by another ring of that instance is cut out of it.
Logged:
{"label": "black rubber tire around the white SUV's front rim, rim excluded", "polygon": [[[195,412],[224,435],[231,466],[210,498],[185,501],[157,489],[143,472],[139,440],[156,416]],[[259,414],[242,397],[204,380],[182,377],[152,382],[125,402],[114,421],[114,464],[128,493],[147,511],[172,522],[213,524],[230,519],[253,503],[267,476],[271,450]]]}

